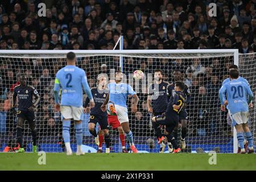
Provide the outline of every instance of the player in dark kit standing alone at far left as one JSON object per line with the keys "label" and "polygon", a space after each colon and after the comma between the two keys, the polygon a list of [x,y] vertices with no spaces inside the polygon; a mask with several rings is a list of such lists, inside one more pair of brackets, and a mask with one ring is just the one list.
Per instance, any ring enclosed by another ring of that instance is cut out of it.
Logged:
{"label": "player in dark kit standing alone at far left", "polygon": [[[32,140],[33,140],[33,152],[36,152],[36,129],[35,129],[35,108],[36,105],[40,101],[40,96],[36,89],[27,84],[27,77],[25,75],[21,75],[20,85],[15,86],[13,93],[13,113],[17,114],[18,122],[17,122],[17,140],[19,143],[18,152],[25,152],[23,148],[23,137],[22,137],[22,128],[23,123],[27,120],[28,125],[30,127]],[[33,104],[33,95],[35,96],[35,103]],[[15,110],[16,106],[16,97],[18,96],[18,111]]]}

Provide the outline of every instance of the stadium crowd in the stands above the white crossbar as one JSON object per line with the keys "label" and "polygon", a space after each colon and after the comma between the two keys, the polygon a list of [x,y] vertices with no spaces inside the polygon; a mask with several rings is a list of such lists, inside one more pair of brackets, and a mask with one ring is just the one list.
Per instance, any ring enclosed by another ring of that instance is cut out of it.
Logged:
{"label": "stadium crowd in the stands above the white crossbar", "polygon": [[[38,3],[46,3],[46,17]],[[209,16],[209,3],[217,16]],[[256,1],[1,1],[1,49],[237,48],[256,51]]]}

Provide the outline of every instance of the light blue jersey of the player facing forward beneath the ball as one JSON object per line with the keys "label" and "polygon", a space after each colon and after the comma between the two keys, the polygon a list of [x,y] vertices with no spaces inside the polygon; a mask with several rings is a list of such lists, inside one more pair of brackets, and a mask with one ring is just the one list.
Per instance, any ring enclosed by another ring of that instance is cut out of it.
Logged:
{"label": "light blue jersey of the player facing forward beneath the ball", "polygon": [[114,102],[115,105],[126,106],[127,96],[136,94],[130,85],[123,83],[112,82],[108,85],[109,101]]}

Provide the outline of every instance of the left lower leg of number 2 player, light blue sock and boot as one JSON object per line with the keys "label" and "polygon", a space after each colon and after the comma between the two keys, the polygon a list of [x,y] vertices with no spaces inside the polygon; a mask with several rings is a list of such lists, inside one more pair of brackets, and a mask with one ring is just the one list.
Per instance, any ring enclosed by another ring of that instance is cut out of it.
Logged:
{"label": "left lower leg of number 2 player, light blue sock and boot", "polygon": [[63,119],[63,129],[62,129],[62,136],[65,142],[65,147],[67,150],[67,155],[72,155],[72,149],[70,146],[70,126],[71,126],[71,119]]}

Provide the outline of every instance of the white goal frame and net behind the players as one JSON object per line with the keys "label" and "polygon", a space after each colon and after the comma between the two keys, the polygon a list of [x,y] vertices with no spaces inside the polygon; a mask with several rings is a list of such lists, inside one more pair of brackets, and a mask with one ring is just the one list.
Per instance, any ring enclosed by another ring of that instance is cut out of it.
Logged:
{"label": "white goal frame and net behind the players", "polygon": [[[65,66],[65,51],[18,51],[0,52],[0,151],[14,151],[18,147],[16,140],[16,117],[11,113],[13,88],[19,82],[19,75],[27,75],[28,84],[34,86],[40,94],[36,109],[36,130],[38,148],[45,152],[63,152],[61,115],[54,110],[53,86],[57,71]],[[172,83],[175,70],[181,72],[191,92],[191,102],[187,106],[188,132],[184,152],[216,151],[232,153],[234,149],[233,129],[228,112],[220,111],[218,90],[221,82],[228,77],[230,64],[239,64],[241,76],[245,77],[255,94],[256,54],[239,55],[229,50],[146,50],[146,51],[74,51],[77,66],[84,69],[90,88],[96,86],[97,76],[106,73],[108,80],[114,79],[114,73],[122,69],[124,82],[130,84],[139,97],[138,111],[131,113],[131,102],[127,100],[130,128],[134,143],[141,152],[159,152],[160,145],[154,135],[151,113],[147,111],[148,86],[154,82],[154,71],[163,72],[163,81]],[[121,59],[120,59],[121,56]],[[122,62],[121,62],[122,61]],[[120,66],[122,65],[122,66]],[[133,72],[144,72],[143,80],[135,81]],[[84,94],[84,101],[86,94]],[[255,105],[255,100],[253,100]],[[255,138],[255,107],[250,110],[250,129]],[[89,111],[83,115],[83,150],[96,152],[97,146],[88,130]],[[98,128],[97,128],[98,130]],[[177,142],[180,144],[181,127]],[[118,131],[110,127],[114,152],[121,150]],[[32,151],[31,133],[28,123],[23,126],[23,141],[27,152]],[[236,140],[235,140],[236,141]],[[126,143],[127,140],[126,140]],[[128,145],[128,144],[127,144]],[[235,143],[237,145],[237,143]],[[73,122],[71,125],[71,147],[76,150],[76,137]],[[129,146],[127,146],[129,148]],[[9,149],[9,150],[7,150]],[[105,150],[105,144],[103,145]],[[165,151],[168,152],[166,145]]]}

